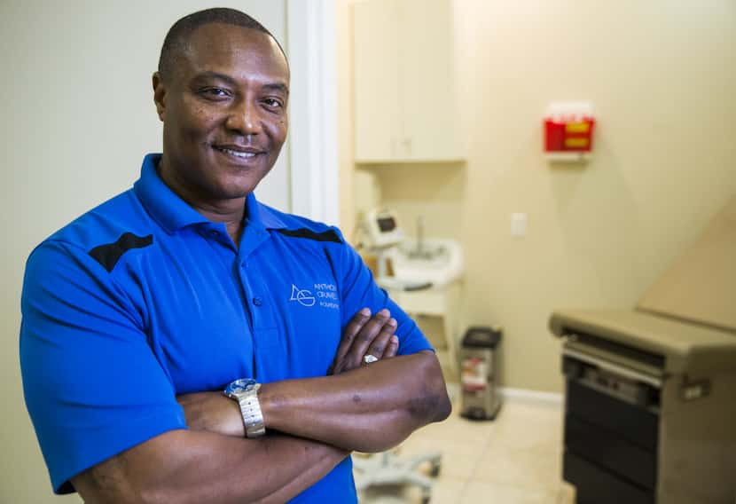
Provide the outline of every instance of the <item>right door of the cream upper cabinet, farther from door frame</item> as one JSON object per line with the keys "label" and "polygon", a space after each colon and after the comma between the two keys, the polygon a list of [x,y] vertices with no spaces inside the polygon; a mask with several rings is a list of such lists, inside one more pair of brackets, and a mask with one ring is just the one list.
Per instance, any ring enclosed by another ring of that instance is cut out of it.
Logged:
{"label": "right door of the cream upper cabinet, farther from door frame", "polygon": [[458,153],[451,0],[402,0],[399,31],[400,157],[449,160]]}

